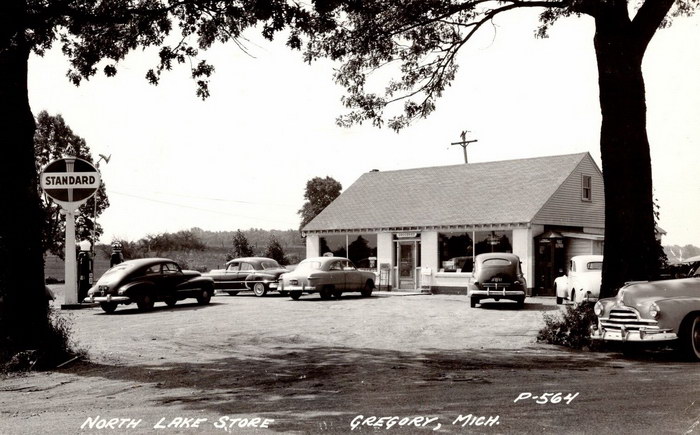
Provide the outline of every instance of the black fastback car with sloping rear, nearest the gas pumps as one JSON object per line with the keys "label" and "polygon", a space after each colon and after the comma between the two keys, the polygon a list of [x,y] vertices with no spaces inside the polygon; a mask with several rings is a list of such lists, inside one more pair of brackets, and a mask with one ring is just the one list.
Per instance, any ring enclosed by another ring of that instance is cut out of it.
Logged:
{"label": "black fastback car with sloping rear, nearest the gas pumps", "polygon": [[153,308],[155,302],[172,307],[177,301],[196,298],[208,304],[214,294],[214,281],[193,270],[182,270],[167,258],[141,258],[120,263],[102,275],[88,290],[85,302],[98,302],[112,313],[119,304],[135,302],[141,311]]}

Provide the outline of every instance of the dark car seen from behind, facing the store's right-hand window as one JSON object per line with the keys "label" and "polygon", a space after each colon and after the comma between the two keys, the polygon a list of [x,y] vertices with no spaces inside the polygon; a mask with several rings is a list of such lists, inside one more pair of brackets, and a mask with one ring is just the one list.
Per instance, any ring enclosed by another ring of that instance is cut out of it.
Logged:
{"label": "dark car seen from behind, facing the store's right-hand window", "polygon": [[484,299],[512,300],[522,308],[527,284],[520,268],[520,257],[502,252],[479,254],[472,273],[467,284],[472,308]]}

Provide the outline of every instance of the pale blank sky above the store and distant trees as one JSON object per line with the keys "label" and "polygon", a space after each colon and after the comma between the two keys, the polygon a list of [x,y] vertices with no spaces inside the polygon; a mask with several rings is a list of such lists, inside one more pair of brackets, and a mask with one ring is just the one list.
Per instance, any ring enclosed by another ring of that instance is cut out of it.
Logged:
{"label": "pale blank sky above the store and distant trees", "polygon": [[[529,12],[496,19],[460,53],[437,110],[400,133],[336,126],[337,65],[306,64],[254,32],[247,53],[228,44],[203,54],[216,68],[205,101],[188,68],[148,84],[154,50],[75,87],[58,48],[30,58],[29,100],[35,115],[61,114],[95,160],[111,156],[99,167],[111,204],[98,219],[103,243],[192,227],[296,229],[311,178],[347,188],[372,169],[460,164],[450,143],[463,130],[477,140],[469,162],[589,152],[600,166],[593,22],[561,20],[548,39],[533,37],[536,25]],[[659,31],[643,68],[663,243],[700,246],[700,15]]]}

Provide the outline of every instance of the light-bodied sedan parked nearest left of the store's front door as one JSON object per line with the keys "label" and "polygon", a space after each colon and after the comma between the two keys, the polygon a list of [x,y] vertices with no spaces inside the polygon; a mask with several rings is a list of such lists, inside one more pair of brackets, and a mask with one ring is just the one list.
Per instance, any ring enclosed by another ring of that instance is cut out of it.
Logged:
{"label": "light-bodied sedan parked nearest left of the store's front door", "polygon": [[292,271],[280,277],[279,290],[289,292],[297,300],[302,293],[319,293],[321,299],[340,299],[345,292],[361,292],[369,297],[374,290],[376,275],[357,270],[344,257],[313,257],[299,263]]}

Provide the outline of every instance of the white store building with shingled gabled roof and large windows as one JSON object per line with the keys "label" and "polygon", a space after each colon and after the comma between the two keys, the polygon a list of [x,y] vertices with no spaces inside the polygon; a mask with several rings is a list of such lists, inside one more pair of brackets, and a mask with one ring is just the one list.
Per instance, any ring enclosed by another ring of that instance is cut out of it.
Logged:
{"label": "white store building with shingled gabled roof and large windows", "polygon": [[474,256],[500,251],[521,258],[530,294],[551,295],[572,256],[603,252],[604,208],[581,153],[373,170],[303,232],[307,257],[347,256],[382,290],[463,293]]}

